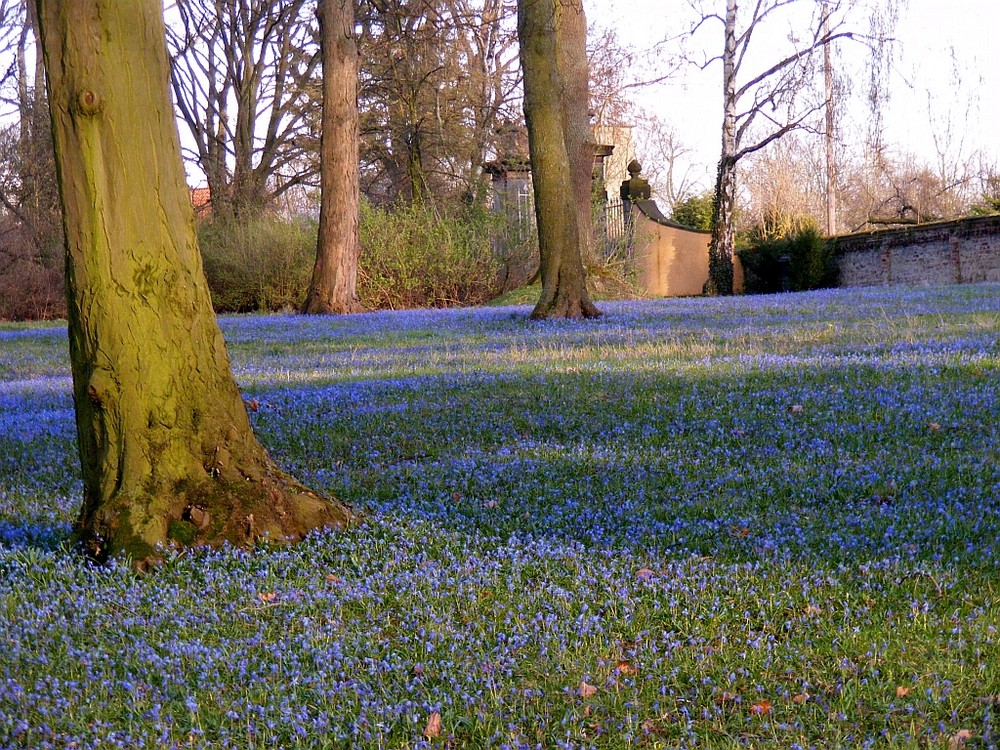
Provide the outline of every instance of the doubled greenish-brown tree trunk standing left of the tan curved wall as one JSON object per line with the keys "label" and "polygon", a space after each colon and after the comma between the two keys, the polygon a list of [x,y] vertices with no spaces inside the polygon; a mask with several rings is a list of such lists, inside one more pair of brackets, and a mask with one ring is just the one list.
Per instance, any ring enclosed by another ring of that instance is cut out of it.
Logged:
{"label": "doubled greenish-brown tree trunk standing left of the tan curved wall", "polygon": [[581,70],[586,75],[581,0],[519,0],[518,39],[541,253],[542,295],[531,316],[597,317],[601,313],[587,293],[582,260],[588,246],[583,238],[590,232],[590,167],[582,196],[587,145],[581,133],[589,120],[586,97],[580,95]]}

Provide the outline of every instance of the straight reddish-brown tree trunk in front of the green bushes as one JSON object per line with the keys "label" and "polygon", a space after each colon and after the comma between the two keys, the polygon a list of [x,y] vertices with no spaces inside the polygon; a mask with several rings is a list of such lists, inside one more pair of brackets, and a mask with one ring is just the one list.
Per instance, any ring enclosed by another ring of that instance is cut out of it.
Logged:
{"label": "straight reddish-brown tree trunk in front of the green bushes", "polygon": [[351,313],[358,301],[358,45],[354,0],[320,0],[323,49],[321,201],[316,265],[304,313]]}

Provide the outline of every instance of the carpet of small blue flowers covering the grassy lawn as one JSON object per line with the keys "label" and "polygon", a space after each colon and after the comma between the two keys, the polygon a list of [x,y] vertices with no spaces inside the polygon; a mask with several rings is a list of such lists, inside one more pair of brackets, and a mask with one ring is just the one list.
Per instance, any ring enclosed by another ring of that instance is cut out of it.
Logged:
{"label": "carpet of small blue flowers covering the grassy lawn", "polygon": [[1000,286],[604,310],[223,319],[365,522],[146,576],[0,326],[0,747],[997,747]]}

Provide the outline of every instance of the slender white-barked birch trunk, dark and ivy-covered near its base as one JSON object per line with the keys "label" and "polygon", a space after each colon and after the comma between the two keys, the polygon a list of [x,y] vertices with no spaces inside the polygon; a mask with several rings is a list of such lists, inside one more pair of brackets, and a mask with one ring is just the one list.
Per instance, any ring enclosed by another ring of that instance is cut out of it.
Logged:
{"label": "slender white-barked birch trunk, dark and ivy-covered near its base", "polygon": [[705,293],[733,293],[733,227],[736,209],[736,0],[726,2],[725,48],[722,53],[722,155],[712,206],[712,240],[708,247]]}

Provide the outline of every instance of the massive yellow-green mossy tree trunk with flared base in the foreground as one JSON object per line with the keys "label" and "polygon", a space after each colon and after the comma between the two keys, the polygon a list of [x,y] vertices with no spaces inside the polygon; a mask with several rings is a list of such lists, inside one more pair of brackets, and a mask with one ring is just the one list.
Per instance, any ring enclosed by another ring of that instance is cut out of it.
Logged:
{"label": "massive yellow-green mossy tree trunk with flared base in the foreground", "polygon": [[159,0],[38,0],[91,554],[348,523],[257,442],[202,273]]}

